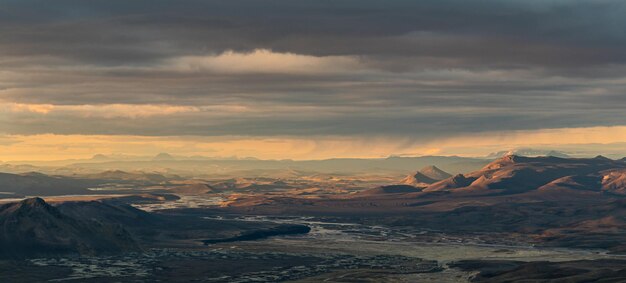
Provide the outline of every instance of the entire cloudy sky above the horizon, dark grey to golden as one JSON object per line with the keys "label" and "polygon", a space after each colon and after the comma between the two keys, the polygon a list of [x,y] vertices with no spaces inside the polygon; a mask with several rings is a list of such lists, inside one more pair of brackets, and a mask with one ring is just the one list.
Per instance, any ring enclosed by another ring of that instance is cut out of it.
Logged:
{"label": "entire cloudy sky above the horizon, dark grey to golden", "polygon": [[0,0],[0,160],[626,156],[621,0]]}

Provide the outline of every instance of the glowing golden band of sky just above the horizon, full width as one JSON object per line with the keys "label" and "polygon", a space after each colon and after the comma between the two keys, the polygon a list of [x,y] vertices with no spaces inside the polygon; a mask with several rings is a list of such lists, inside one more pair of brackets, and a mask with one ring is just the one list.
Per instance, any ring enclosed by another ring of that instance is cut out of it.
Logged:
{"label": "glowing golden band of sky just above the horizon, full width", "polygon": [[626,143],[626,126],[490,132],[429,142],[389,137],[7,135],[0,139],[0,152],[3,161],[89,158],[97,153],[154,155],[159,152],[184,156],[326,159],[435,154],[484,156],[514,147],[615,143]]}

